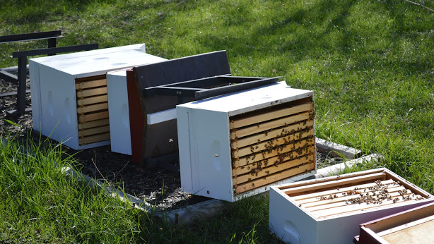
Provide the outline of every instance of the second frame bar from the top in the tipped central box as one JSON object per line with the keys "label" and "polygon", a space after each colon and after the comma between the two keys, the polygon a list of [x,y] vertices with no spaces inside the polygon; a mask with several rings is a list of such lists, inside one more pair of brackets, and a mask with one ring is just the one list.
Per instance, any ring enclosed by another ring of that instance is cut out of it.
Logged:
{"label": "second frame bar from the top in the tipped central box", "polygon": [[230,133],[230,140],[240,139],[247,135],[253,135],[256,133],[264,133],[264,135],[267,135],[267,130],[272,130],[274,128],[278,128],[281,126],[287,126],[292,123],[298,123],[300,121],[308,121],[310,120],[311,113],[305,112],[302,114],[297,114],[293,116],[288,116],[284,118],[278,118],[274,121],[267,121],[264,123],[257,123],[254,126],[249,126],[247,128],[241,128],[237,130],[232,130]]}

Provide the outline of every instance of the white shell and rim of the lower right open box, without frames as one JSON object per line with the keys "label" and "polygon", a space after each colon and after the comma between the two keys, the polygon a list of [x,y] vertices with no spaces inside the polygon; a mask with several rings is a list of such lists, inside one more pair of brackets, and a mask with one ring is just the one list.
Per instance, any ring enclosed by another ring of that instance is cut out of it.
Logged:
{"label": "white shell and rim of the lower right open box, without frames", "polygon": [[[383,170],[387,171],[387,173],[392,173],[392,171],[388,171],[387,169]],[[351,175],[357,176],[363,172],[366,171],[352,173]],[[335,181],[339,179],[339,176],[322,178],[322,181],[327,179]],[[406,181],[403,178],[400,179],[401,182]],[[309,184],[316,181],[318,180],[305,181],[304,183]],[[300,183],[303,184],[303,182],[296,184]],[[429,198],[425,200],[399,202],[394,205],[385,206],[378,205],[378,207],[364,209],[363,211],[317,218],[307,209],[299,207],[292,197],[286,195],[284,190],[280,189],[291,187],[291,185],[285,184],[271,187],[269,205],[270,231],[276,233],[276,236],[281,238],[281,240],[291,243],[351,243],[354,236],[358,235],[359,224],[421,206],[433,200],[433,196],[427,193]],[[417,188],[416,185],[414,185],[414,188],[426,193],[422,189]]]}

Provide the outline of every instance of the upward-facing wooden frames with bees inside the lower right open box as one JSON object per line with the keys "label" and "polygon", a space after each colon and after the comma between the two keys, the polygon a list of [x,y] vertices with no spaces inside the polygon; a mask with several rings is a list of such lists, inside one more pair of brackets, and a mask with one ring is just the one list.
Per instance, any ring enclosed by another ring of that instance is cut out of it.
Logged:
{"label": "upward-facing wooden frames with bees inside the lower right open box", "polygon": [[387,171],[343,176],[335,181],[317,181],[294,188],[282,187],[284,193],[316,218],[365,211],[401,202],[414,202],[428,194],[401,181]]}

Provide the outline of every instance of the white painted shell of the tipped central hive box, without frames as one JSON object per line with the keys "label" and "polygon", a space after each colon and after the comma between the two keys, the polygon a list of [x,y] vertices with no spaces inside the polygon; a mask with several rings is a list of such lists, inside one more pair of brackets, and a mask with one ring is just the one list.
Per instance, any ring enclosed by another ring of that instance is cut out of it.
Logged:
{"label": "white painted shell of the tipped central hive box, without frames", "polygon": [[182,190],[234,202],[263,193],[270,185],[313,176],[315,170],[234,195],[229,130],[230,116],[310,96],[312,91],[290,89],[281,82],[177,105]]}

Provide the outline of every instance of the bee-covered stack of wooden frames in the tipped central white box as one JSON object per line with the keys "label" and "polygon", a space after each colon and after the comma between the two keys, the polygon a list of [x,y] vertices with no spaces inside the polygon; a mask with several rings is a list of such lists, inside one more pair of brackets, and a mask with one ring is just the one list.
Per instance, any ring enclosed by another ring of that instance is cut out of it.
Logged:
{"label": "bee-covered stack of wooden frames in the tipped central white box", "polygon": [[235,195],[315,169],[312,97],[230,117]]}

